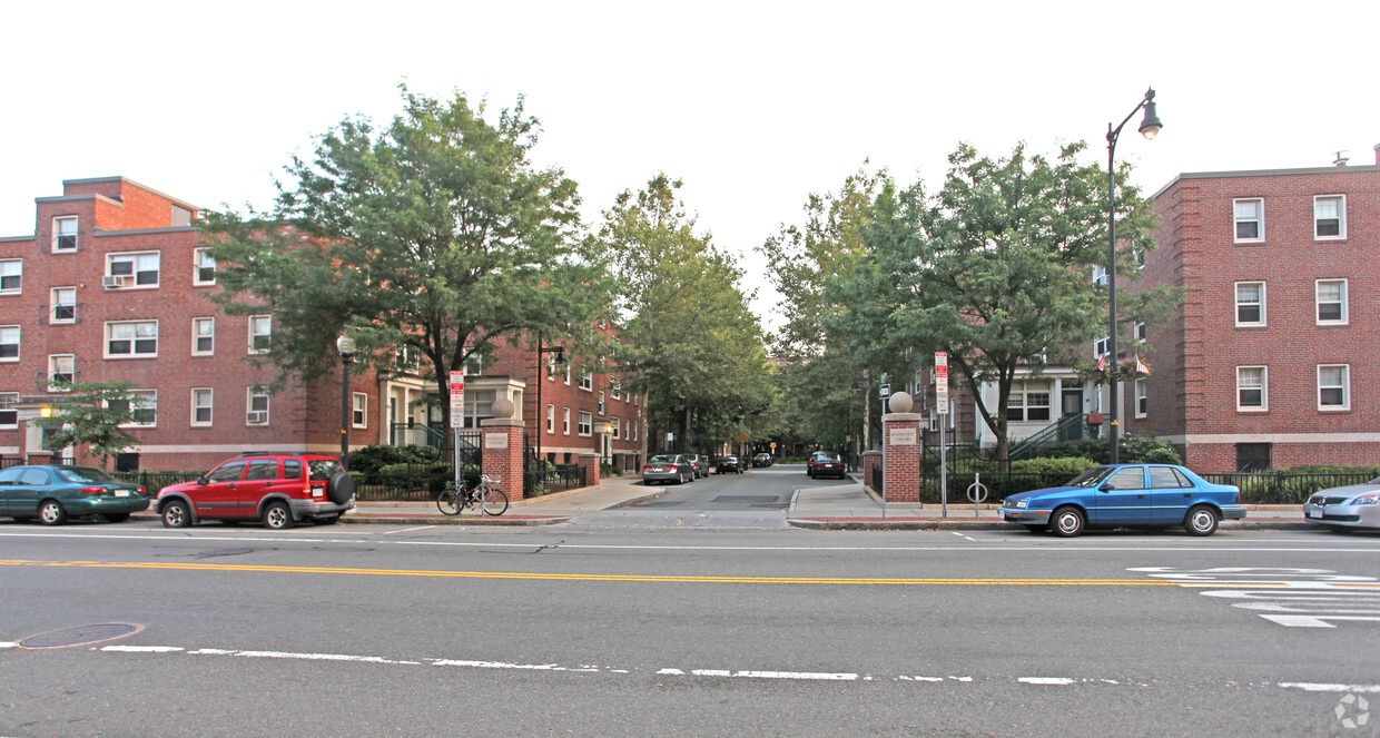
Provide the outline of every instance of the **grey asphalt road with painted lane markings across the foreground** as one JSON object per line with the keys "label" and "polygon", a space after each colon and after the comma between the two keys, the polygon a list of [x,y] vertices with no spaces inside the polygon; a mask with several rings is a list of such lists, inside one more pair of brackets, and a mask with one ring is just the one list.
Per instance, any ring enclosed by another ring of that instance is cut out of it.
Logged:
{"label": "grey asphalt road with painted lane markings across the foreground", "polygon": [[1380,734],[1373,535],[0,523],[0,578],[4,737]]}

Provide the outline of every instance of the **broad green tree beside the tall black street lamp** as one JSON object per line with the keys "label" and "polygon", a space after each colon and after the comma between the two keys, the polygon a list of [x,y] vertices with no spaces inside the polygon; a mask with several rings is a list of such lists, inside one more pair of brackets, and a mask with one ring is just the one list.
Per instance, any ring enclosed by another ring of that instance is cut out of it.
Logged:
{"label": "broad green tree beside the tall black street lamp", "polygon": [[[981,418],[996,436],[996,457],[1007,458],[1006,408],[1017,370],[1039,375],[1046,363],[1081,363],[1078,356],[1105,335],[1105,288],[1092,281],[1107,263],[1107,174],[1081,164],[1083,143],[1049,160],[978,156],[960,145],[933,199],[919,185],[882,189],[864,232],[871,270],[850,286],[867,302],[854,316],[860,335],[923,352],[947,350],[949,367],[967,385]],[[1127,182],[1118,181],[1118,275],[1133,279],[1134,254],[1151,210]],[[1167,290],[1126,295],[1125,316],[1154,321],[1172,299]],[[1122,321],[1125,324],[1125,321]],[[981,388],[996,388],[989,404]]]}

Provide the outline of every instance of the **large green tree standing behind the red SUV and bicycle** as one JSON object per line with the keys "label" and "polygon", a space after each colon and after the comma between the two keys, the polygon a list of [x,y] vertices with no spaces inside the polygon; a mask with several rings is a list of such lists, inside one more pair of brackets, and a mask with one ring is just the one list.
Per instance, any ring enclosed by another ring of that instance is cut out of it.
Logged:
{"label": "large green tree standing behind the red SUV and bicycle", "polygon": [[346,119],[293,157],[272,212],[207,218],[224,287],[213,299],[272,312],[259,360],[277,383],[337,366],[341,331],[378,368],[420,360],[440,396],[505,335],[596,346],[609,306],[598,244],[580,235],[575,182],[530,161],[538,121],[522,98],[490,123],[458,92],[402,97],[388,127]]}

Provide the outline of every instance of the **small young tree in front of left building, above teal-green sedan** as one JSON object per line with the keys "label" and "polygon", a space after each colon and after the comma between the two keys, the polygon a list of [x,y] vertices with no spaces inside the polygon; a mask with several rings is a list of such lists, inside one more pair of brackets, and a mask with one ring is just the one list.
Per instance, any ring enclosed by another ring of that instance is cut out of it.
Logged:
{"label": "small young tree in front of left building, above teal-green sedan", "polygon": [[110,457],[139,446],[139,439],[121,428],[134,422],[141,412],[131,392],[134,382],[77,382],[66,385],[70,393],[54,403],[52,415],[43,422],[55,430],[46,435],[50,448],[86,446],[87,452],[101,457],[101,468],[109,466]]}

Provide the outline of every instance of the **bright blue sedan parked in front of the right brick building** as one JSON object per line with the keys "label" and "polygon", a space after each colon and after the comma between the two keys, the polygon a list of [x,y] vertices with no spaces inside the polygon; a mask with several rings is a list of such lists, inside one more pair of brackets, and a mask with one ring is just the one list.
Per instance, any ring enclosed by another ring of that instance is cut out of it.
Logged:
{"label": "bright blue sedan parked in front of the right brick building", "polygon": [[1123,526],[1183,526],[1190,535],[1212,535],[1219,521],[1246,517],[1241,490],[1170,463],[1094,466],[1064,487],[1007,497],[999,512],[1032,532],[1049,528],[1063,537]]}

